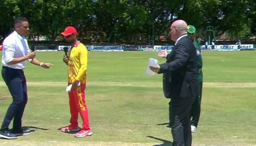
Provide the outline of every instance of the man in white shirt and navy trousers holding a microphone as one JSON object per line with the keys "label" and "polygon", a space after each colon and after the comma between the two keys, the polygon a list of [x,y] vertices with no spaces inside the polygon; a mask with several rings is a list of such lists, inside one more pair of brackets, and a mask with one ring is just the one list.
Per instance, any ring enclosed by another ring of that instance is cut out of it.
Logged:
{"label": "man in white shirt and navy trousers holding a microphone", "polygon": [[[10,104],[3,124],[0,129],[0,137],[6,139],[16,139],[18,135],[31,134],[29,131],[22,130],[22,115],[27,103],[27,85],[23,72],[25,61],[49,69],[52,64],[39,62],[35,59],[35,52],[30,53],[27,45],[26,36],[29,34],[29,22],[26,18],[17,18],[14,21],[14,32],[12,32],[3,42],[3,57],[1,63],[2,77],[7,85],[11,96]],[[9,131],[9,124],[13,120],[12,131]]]}

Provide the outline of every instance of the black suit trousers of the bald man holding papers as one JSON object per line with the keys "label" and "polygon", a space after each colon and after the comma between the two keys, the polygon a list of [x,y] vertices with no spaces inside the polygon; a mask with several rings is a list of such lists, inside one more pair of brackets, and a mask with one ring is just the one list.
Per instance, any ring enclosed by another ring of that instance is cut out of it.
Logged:
{"label": "black suit trousers of the bald man holding papers", "polygon": [[191,106],[195,97],[173,98],[169,102],[169,120],[173,146],[191,146]]}

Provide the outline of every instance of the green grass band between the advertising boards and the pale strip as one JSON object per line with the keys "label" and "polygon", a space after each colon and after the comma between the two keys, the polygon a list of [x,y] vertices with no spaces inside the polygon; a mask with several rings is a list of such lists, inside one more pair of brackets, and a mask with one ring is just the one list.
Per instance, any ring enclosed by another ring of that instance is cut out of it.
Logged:
{"label": "green grass band between the advertising boards and the pale strip", "polygon": [[[49,70],[26,62],[28,81],[66,81],[67,68],[62,62],[63,52],[37,52],[37,58],[55,66]],[[203,51],[203,73],[206,82],[256,82],[256,51]],[[152,82],[161,76],[147,76],[144,71],[148,58],[158,58],[156,52],[95,52],[89,51],[88,81]],[[0,77],[0,81],[3,80]]]}

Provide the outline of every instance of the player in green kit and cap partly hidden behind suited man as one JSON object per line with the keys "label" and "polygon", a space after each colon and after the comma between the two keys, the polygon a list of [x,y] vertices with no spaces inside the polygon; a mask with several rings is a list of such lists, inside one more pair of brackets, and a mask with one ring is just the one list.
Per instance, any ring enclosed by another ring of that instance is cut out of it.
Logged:
{"label": "player in green kit and cap partly hidden behind suited man", "polygon": [[191,109],[191,132],[196,132],[197,130],[197,124],[199,121],[200,117],[200,106],[201,106],[201,99],[202,99],[202,88],[203,88],[203,72],[202,72],[202,67],[203,67],[203,62],[202,62],[202,56],[201,56],[201,49],[196,41],[196,28],[192,25],[188,25],[187,29],[187,34],[193,44],[196,47],[196,66],[198,69],[198,81],[199,81],[199,90],[200,90],[200,95],[196,97],[196,100],[192,104],[192,109]]}

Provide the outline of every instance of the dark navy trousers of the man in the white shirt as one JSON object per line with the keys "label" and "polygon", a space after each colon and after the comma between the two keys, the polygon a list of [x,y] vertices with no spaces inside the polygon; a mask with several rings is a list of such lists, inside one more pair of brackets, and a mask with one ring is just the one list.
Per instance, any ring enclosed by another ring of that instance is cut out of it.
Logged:
{"label": "dark navy trousers of the man in the white shirt", "polygon": [[22,115],[27,104],[26,78],[21,69],[3,66],[1,73],[12,96],[12,103],[5,114],[1,130],[8,130],[12,119],[14,119],[12,128],[20,130]]}

